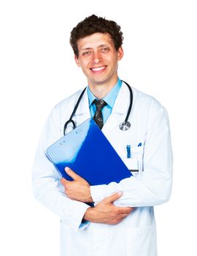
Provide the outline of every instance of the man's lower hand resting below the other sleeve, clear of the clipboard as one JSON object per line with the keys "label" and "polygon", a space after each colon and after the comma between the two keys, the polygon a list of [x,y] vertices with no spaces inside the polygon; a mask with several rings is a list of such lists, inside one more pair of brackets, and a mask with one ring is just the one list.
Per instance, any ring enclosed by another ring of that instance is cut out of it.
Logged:
{"label": "man's lower hand resting below the other sleeve, clear of the clipboard", "polygon": [[122,192],[115,193],[101,200],[95,207],[90,207],[85,212],[83,219],[89,222],[117,224],[121,222],[134,208],[115,206],[113,202],[122,196]]}

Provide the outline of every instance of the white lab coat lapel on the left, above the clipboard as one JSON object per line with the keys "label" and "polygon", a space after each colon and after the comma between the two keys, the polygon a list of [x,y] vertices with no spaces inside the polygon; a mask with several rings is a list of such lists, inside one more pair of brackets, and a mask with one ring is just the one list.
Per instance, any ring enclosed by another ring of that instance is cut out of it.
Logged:
{"label": "white lab coat lapel on the left, above the clipboard", "polygon": [[83,97],[80,101],[80,105],[78,106],[74,117],[76,118],[77,126],[82,124],[82,122],[84,122],[88,118],[91,118],[87,89],[85,90],[85,93],[83,94]]}

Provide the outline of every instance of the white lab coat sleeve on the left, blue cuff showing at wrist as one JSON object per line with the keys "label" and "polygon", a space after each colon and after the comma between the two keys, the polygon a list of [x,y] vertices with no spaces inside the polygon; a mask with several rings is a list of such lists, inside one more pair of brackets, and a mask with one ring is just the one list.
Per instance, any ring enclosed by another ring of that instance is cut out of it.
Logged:
{"label": "white lab coat sleeve on the left, blue cuff showing at wrist", "polygon": [[32,173],[34,196],[74,230],[84,229],[88,222],[82,223],[82,217],[90,206],[66,197],[60,182],[61,176],[46,156],[47,147],[61,137],[58,116],[55,112],[54,109],[47,119],[36,151]]}

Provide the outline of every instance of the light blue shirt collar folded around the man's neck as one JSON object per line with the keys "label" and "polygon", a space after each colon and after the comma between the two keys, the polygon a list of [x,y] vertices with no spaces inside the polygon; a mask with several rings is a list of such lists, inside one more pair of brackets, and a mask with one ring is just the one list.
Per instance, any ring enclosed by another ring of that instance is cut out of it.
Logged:
{"label": "light blue shirt collar folded around the man's neck", "polygon": [[[103,98],[104,101],[109,105],[111,108],[113,108],[115,104],[115,99],[117,97],[118,92],[120,91],[120,88],[122,86],[122,81],[118,78],[116,85],[112,88],[111,91],[108,92],[108,94]],[[88,86],[88,100],[89,100],[89,106],[93,103],[94,99],[97,99],[96,96],[93,95],[93,93],[90,91],[90,88]]]}

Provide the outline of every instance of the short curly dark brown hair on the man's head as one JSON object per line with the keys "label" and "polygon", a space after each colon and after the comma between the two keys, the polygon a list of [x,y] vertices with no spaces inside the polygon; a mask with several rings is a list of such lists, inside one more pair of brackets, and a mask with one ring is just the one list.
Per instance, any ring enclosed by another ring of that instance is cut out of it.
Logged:
{"label": "short curly dark brown hair on the man's head", "polygon": [[77,41],[94,33],[109,34],[116,50],[123,45],[123,33],[115,21],[91,15],[78,23],[71,31],[70,44],[77,58],[79,57]]}

